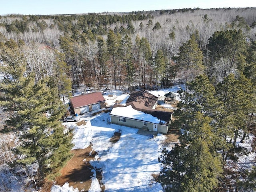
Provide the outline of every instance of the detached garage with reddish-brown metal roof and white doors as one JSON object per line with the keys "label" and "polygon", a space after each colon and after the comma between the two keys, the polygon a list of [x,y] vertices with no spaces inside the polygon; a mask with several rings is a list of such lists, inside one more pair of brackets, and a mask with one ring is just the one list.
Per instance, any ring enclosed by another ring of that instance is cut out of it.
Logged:
{"label": "detached garage with reddish-brown metal roof and white doors", "polygon": [[74,96],[70,99],[70,105],[74,113],[78,115],[106,107],[105,99],[101,92]]}

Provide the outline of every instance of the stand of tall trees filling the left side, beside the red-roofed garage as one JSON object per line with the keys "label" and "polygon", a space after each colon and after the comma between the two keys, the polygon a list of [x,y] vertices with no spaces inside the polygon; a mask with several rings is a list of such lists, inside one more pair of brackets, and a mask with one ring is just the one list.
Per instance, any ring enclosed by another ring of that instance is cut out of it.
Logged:
{"label": "stand of tall trees filling the left side, beside the red-roofed garage", "polygon": [[[67,108],[64,97],[71,94],[67,75],[70,69],[63,54],[41,45],[31,46],[28,48],[22,41],[0,42],[0,106],[6,114],[0,131],[14,132],[19,139],[10,140],[13,148],[4,148],[0,159],[3,166],[10,166],[9,171],[16,175],[23,190],[28,183],[24,183],[22,175],[32,180],[37,190],[47,180],[54,180],[72,157],[73,146],[72,132],[60,122]],[[3,140],[1,145],[8,143]],[[11,185],[5,184],[7,175],[0,176],[0,190],[11,190]]]}

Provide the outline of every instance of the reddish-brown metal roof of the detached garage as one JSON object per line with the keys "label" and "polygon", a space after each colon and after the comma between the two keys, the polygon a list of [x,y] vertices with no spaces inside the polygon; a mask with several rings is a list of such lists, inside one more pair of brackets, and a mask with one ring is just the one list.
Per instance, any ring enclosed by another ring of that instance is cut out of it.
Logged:
{"label": "reddish-brown metal roof of the detached garage", "polygon": [[88,93],[74,96],[70,99],[71,106],[76,109],[105,101],[101,92]]}

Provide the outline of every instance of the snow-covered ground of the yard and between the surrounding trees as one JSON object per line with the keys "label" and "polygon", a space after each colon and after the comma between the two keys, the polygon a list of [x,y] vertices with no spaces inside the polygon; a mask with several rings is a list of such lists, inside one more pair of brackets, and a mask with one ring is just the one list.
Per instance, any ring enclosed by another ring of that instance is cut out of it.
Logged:
{"label": "snow-covered ground of the yard and between the surrounding trees", "polygon": [[[168,89],[152,90],[150,93],[156,96],[160,95],[161,98],[164,94],[170,91],[176,92],[179,89],[179,86],[174,86]],[[113,95],[112,100],[108,99],[109,94]],[[104,94],[108,106],[113,105],[115,100],[123,100],[126,96],[128,93],[120,90],[112,90]],[[86,125],[78,126],[76,122],[65,123],[74,133],[73,149],[84,149],[92,144],[92,149],[98,152],[95,159],[90,161],[95,169],[92,170],[94,174],[89,192],[101,191],[96,178],[96,169],[102,170],[102,183],[105,186],[105,192],[162,192],[162,186],[154,181],[152,174],[158,174],[161,170],[158,156],[160,156],[162,148],[166,147],[162,144],[166,136],[158,134],[156,137],[150,138],[136,134],[138,129],[110,124],[109,112],[92,115],[95,112],[97,111],[80,116],[81,120],[86,121]],[[114,132],[121,132],[120,140],[116,143],[110,142]],[[245,140],[244,144],[239,145],[250,148],[251,140],[252,135]],[[172,146],[174,144],[167,147],[171,149]],[[254,159],[255,153],[252,153],[239,158],[238,164],[244,166],[250,162],[250,166],[255,165]],[[12,182],[16,184],[16,187],[12,187],[12,191],[23,191],[16,190],[19,185],[15,179]],[[78,189],[74,189],[66,183],[63,186],[52,186],[51,192],[78,192]]]}

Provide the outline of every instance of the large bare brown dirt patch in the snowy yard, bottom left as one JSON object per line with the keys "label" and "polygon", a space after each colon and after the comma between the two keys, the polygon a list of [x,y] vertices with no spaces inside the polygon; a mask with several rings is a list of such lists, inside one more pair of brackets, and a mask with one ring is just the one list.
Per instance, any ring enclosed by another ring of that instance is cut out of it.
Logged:
{"label": "large bare brown dirt patch in the snowy yard, bottom left", "polygon": [[94,167],[90,164],[90,160],[94,159],[96,152],[89,146],[85,149],[75,149],[71,151],[74,156],[68,161],[67,165],[61,170],[61,176],[56,178],[57,185],[64,185],[65,182],[69,186],[78,188],[79,191],[88,191],[92,183]]}

